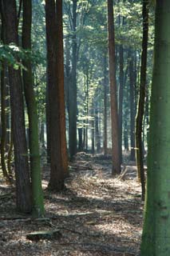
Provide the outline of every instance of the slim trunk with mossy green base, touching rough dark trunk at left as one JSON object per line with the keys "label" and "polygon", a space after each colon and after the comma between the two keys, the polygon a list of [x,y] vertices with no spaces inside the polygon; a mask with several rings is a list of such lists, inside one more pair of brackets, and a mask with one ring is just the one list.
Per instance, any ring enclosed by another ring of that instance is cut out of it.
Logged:
{"label": "slim trunk with mossy green base, touching rough dark trunk at left", "polygon": [[[31,50],[32,0],[23,0],[22,47]],[[33,74],[30,60],[24,61],[23,82],[29,118],[30,174],[33,196],[33,214],[44,214],[42,178],[38,138],[38,107],[34,94]]]}

